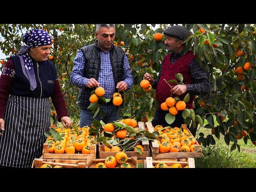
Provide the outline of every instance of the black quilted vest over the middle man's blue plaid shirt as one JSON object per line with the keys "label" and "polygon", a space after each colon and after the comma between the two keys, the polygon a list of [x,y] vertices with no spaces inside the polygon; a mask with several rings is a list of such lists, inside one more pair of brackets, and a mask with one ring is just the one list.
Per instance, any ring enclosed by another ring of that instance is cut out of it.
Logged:
{"label": "black quilted vest over the middle man's blue plaid shirt", "polygon": [[[98,81],[100,73],[100,51],[96,41],[92,45],[88,45],[81,48],[84,54],[85,67],[84,67],[84,77],[90,79],[94,78]],[[115,87],[118,82],[123,80],[124,73],[124,51],[120,48],[113,47],[110,49],[110,60],[112,65],[112,70],[114,74]],[[90,93],[95,88],[80,88],[78,93],[78,106],[81,108],[87,108],[90,105]],[[118,90],[116,90],[117,92]],[[120,92],[122,94],[122,92]],[[114,93],[113,93],[114,94]],[[122,94],[122,98],[124,98]]]}

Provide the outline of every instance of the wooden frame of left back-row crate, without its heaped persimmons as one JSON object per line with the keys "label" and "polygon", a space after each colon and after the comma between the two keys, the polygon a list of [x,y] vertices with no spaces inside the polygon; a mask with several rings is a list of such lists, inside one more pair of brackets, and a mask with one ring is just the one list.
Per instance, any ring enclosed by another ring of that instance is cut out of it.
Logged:
{"label": "wooden frame of left back-row crate, without its heaped persimmons", "polygon": [[90,154],[54,154],[49,153],[48,144],[44,143],[43,149],[43,158],[44,159],[95,159],[96,158],[96,144],[91,145]]}

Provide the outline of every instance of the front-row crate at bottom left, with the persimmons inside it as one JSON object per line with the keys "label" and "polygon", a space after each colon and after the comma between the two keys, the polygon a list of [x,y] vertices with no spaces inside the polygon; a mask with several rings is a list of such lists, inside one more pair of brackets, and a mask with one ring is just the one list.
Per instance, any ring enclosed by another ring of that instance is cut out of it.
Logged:
{"label": "front-row crate at bottom left, with the persimmons inside it", "polygon": [[32,168],[86,168],[86,159],[43,159],[35,158]]}

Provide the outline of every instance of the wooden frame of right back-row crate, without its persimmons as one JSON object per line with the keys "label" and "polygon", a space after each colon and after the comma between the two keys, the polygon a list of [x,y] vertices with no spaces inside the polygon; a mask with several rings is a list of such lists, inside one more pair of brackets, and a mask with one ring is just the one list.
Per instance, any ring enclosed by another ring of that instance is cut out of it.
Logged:
{"label": "wooden frame of right back-row crate, without its persimmons", "polygon": [[[151,122],[146,122],[146,126],[148,128],[148,131],[150,133],[154,132],[154,128],[152,126]],[[183,129],[188,130],[188,132],[191,134],[190,130],[187,128],[186,124],[182,124],[181,127]],[[151,156],[153,159],[175,159],[175,158],[198,158],[201,157],[202,154],[202,149],[201,146],[198,144],[196,141],[196,146],[194,148],[193,152],[176,152],[176,153],[159,153],[159,145],[156,139],[154,141],[150,141],[150,151],[151,151]]]}

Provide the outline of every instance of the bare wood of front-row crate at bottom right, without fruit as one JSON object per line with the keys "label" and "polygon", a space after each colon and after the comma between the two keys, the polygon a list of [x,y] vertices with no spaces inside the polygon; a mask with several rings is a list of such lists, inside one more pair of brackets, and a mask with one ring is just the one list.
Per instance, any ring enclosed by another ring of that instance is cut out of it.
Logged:
{"label": "bare wood of front-row crate at bottom right, without fruit", "polygon": [[185,166],[188,166],[189,168],[195,168],[195,160],[194,158],[185,158],[185,161],[170,161],[170,160],[153,160],[152,157],[147,157],[146,158],[146,168],[153,168],[152,165],[156,166],[156,164],[158,163],[166,163],[166,165],[168,166],[168,168],[171,168],[171,166],[174,163],[179,163],[181,164],[182,168],[184,168]]}

